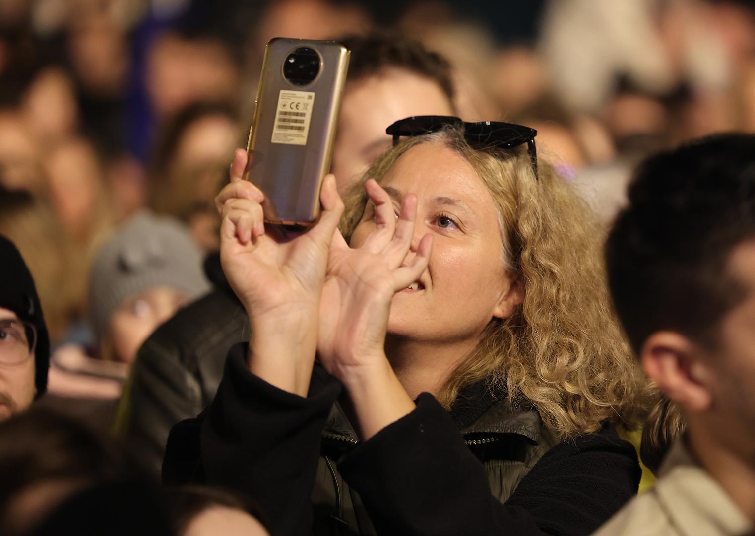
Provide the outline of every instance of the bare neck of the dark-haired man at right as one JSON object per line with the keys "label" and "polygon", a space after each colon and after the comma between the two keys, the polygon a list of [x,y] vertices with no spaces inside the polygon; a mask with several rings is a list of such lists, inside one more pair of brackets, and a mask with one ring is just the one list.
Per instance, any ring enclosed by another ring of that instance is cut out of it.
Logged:
{"label": "bare neck of the dark-haired man at right", "polygon": [[[745,454],[716,441],[718,436],[690,423],[687,443],[692,454],[729,495],[739,511],[755,522],[755,454]],[[741,445],[744,447],[744,443]]]}

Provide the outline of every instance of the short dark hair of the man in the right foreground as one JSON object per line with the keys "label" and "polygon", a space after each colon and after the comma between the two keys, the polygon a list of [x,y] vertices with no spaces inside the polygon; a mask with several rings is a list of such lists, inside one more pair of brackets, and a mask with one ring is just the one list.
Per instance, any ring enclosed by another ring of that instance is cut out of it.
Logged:
{"label": "short dark hair of the man in the right foreground", "polygon": [[606,242],[616,311],[634,350],[659,330],[715,344],[743,297],[726,273],[755,238],[755,135],[717,134],[639,165]]}

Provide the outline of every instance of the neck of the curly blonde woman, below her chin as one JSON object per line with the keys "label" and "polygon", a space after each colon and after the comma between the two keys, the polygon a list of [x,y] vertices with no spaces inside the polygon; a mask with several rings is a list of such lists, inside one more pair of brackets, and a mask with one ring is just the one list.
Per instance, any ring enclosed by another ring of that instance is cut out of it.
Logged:
{"label": "neck of the curly blonde woman, below her chin", "polygon": [[415,399],[424,392],[436,395],[474,346],[470,340],[433,343],[389,334],[385,351],[402,386]]}

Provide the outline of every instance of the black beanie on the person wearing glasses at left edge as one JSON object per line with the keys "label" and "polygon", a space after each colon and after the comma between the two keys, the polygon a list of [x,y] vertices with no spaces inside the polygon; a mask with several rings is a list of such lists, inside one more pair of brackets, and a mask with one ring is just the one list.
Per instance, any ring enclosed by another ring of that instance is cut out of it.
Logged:
{"label": "black beanie on the person wearing glasses at left edge", "polygon": [[32,322],[37,329],[34,353],[36,398],[47,390],[50,368],[50,337],[34,279],[16,246],[0,235],[0,307],[16,313],[19,319]]}

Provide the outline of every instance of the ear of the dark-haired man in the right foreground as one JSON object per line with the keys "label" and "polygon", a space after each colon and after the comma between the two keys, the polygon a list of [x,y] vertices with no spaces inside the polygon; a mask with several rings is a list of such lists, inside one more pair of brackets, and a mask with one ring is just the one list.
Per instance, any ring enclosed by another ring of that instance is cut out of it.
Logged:
{"label": "ear of the dark-haired man in the right foreground", "polygon": [[645,374],[665,396],[685,411],[699,413],[713,402],[707,365],[687,337],[672,331],[657,331],[643,344],[640,362]]}

